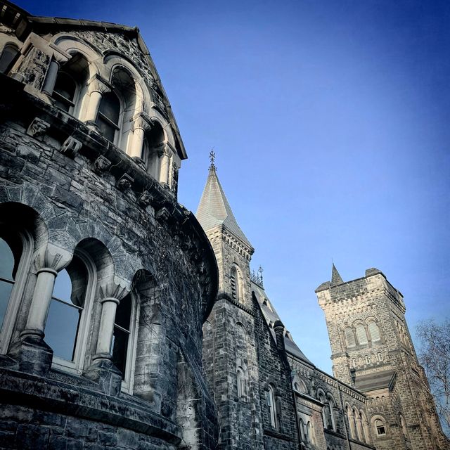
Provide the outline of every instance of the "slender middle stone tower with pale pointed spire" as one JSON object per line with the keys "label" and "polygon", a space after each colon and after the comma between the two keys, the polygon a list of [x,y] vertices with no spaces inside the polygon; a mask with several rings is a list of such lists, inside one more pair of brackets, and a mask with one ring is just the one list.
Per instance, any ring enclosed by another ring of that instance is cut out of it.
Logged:
{"label": "slender middle stone tower with pale pointed spire", "polygon": [[226,200],[214,156],[196,215],[212,243],[219,269],[219,294],[203,326],[205,371],[221,426],[219,448],[263,448],[250,288],[254,250]]}

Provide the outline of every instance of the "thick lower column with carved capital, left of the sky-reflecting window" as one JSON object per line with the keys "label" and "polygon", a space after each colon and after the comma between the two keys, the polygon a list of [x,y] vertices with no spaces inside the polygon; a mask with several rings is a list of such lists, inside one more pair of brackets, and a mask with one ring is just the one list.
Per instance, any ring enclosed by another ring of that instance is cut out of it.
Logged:
{"label": "thick lower column with carved capital, left of the sky-reflecting window", "polygon": [[38,252],[34,265],[37,280],[25,330],[20,333],[19,368],[21,371],[45,375],[53,359],[53,350],[44,341],[44,329],[49,313],[51,295],[58,271],[68,265],[72,254],[63,248],[49,244]]}

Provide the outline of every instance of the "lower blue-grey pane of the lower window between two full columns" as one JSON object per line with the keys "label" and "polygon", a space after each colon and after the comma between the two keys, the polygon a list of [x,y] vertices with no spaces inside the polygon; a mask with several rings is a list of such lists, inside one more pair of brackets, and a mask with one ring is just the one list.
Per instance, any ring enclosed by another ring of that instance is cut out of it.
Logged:
{"label": "lower blue-grey pane of the lower window between two full columns", "polygon": [[82,309],[51,300],[45,340],[56,356],[72,361]]}

